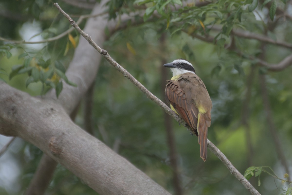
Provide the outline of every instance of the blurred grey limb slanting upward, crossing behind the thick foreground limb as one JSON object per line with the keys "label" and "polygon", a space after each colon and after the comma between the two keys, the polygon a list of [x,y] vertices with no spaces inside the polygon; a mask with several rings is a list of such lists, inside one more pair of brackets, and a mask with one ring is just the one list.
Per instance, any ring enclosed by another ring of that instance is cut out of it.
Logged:
{"label": "blurred grey limb slanting upward, crossing behind the thick foreground limb", "polygon": [[[103,15],[100,13],[105,13],[105,8],[102,7],[103,3],[104,2],[101,2],[100,4],[95,5],[91,16]],[[83,17],[86,18],[88,16]],[[81,22],[81,20],[83,19],[79,18],[78,21]],[[94,34],[95,37],[93,37],[93,39],[102,44],[103,41],[105,41],[103,29],[106,25],[107,23],[105,18],[90,18],[87,21],[84,29],[86,29],[87,32],[91,32],[91,34]],[[100,28],[97,29],[97,27]],[[72,27],[71,29],[74,28]],[[73,60],[71,61],[69,69],[66,72],[66,76],[69,80],[77,80],[78,78],[76,79],[75,76],[79,76],[80,79],[78,80],[78,86],[77,88],[72,88],[66,83],[63,83],[63,92],[60,94],[59,99],[56,99],[56,102],[67,108],[67,114],[70,114],[71,117],[73,117],[72,114],[74,111],[72,113],[72,109],[70,108],[77,107],[81,97],[83,97],[84,93],[88,90],[88,87],[91,85],[91,83],[93,83],[93,80],[96,76],[96,72],[99,67],[98,63],[100,62],[101,56],[97,56],[95,53],[96,51],[90,45],[88,45],[86,40],[80,39],[79,45],[74,53]],[[65,94],[74,98],[66,99],[67,96],[64,97]],[[53,91],[48,93],[45,98],[54,99],[55,92]],[[36,173],[34,174],[29,184],[26,194],[44,194],[51,178],[53,177],[53,173],[57,164],[58,163],[55,162],[51,157],[43,154],[41,163],[37,167]]]}

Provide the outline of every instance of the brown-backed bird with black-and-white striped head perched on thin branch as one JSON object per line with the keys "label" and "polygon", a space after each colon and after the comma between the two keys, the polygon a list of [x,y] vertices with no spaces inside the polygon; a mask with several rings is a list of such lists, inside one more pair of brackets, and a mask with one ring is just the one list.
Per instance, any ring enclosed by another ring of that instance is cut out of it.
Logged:
{"label": "brown-backed bird with black-and-white striped head perched on thin branch", "polygon": [[166,102],[190,126],[192,133],[199,137],[200,156],[206,161],[212,109],[206,86],[187,60],[178,59],[163,66],[170,68],[173,73],[171,80],[166,83]]}

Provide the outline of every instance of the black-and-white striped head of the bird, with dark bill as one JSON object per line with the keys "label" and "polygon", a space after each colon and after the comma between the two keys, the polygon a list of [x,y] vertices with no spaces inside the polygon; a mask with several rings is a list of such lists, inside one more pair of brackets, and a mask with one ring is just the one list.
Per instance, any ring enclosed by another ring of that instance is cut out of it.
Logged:
{"label": "black-and-white striped head of the bird, with dark bill", "polygon": [[196,74],[193,65],[189,61],[184,59],[173,60],[173,62],[165,64],[163,66],[170,68],[173,76],[177,76],[187,72]]}

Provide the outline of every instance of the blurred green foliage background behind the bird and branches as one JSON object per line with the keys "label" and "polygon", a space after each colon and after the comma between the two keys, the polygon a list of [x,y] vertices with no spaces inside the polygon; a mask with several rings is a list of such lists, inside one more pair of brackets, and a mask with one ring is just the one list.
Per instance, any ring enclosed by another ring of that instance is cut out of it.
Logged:
{"label": "blurred green foliage background behind the bird and branches", "polygon": [[[68,1],[57,2],[74,20],[91,12]],[[82,2],[89,7],[95,3]],[[108,39],[103,47],[112,58],[161,100],[165,85],[161,77],[171,78],[162,65],[177,58],[192,62],[213,102],[209,140],[242,174],[251,166],[269,166],[278,177],[291,180],[284,174],[287,168],[292,170],[292,63],[279,70],[266,65],[277,65],[291,55],[291,1],[111,0],[107,6],[109,20],[135,12],[133,20],[120,21],[126,25],[115,32],[105,29]],[[2,0],[0,7],[1,80],[31,95],[58,88],[60,79],[66,79],[61,73],[72,59],[79,35],[73,30],[39,44],[13,41],[43,41],[70,25],[51,1]],[[239,36],[238,31],[256,33],[274,44]],[[105,60],[93,89],[93,135],[111,148],[115,145],[121,156],[172,194],[249,194],[210,151],[204,163],[197,137],[171,119],[179,178],[174,183],[167,119],[161,108]],[[85,127],[84,107],[82,102],[75,119],[81,127]],[[0,137],[0,145],[6,140]],[[0,194],[22,194],[41,155],[38,148],[17,139],[0,158]],[[265,172],[260,183],[254,176],[249,181],[261,194],[289,194],[291,189],[289,182]],[[46,194],[97,193],[58,165]]]}

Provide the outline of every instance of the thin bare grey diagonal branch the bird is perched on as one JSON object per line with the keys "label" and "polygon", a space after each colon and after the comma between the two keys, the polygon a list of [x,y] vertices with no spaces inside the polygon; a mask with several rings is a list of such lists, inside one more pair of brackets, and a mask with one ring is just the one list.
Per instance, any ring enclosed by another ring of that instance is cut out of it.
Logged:
{"label": "thin bare grey diagonal branch the bird is perched on", "polygon": [[[164,104],[161,100],[159,100],[156,96],[154,96],[149,90],[147,90],[137,79],[135,79],[126,69],[121,67],[106,50],[100,48],[91,37],[86,34],[80,27],[70,18],[70,16],[65,13],[62,8],[58,5],[58,3],[54,3],[54,6],[62,13],[68,20],[69,23],[88,41],[88,43],[93,46],[113,67],[115,67],[119,72],[121,72],[127,79],[129,79],[136,87],[138,87],[148,98],[154,101],[157,105],[159,105],[166,113],[171,115],[176,121],[181,124],[186,125],[186,123],[181,119],[175,112],[173,112],[166,104]],[[232,163],[226,158],[226,156],[217,148],[215,145],[207,140],[208,148],[213,152],[228,168],[230,173],[232,173],[251,194],[260,195],[260,193],[244,178],[241,173],[232,165]]]}

